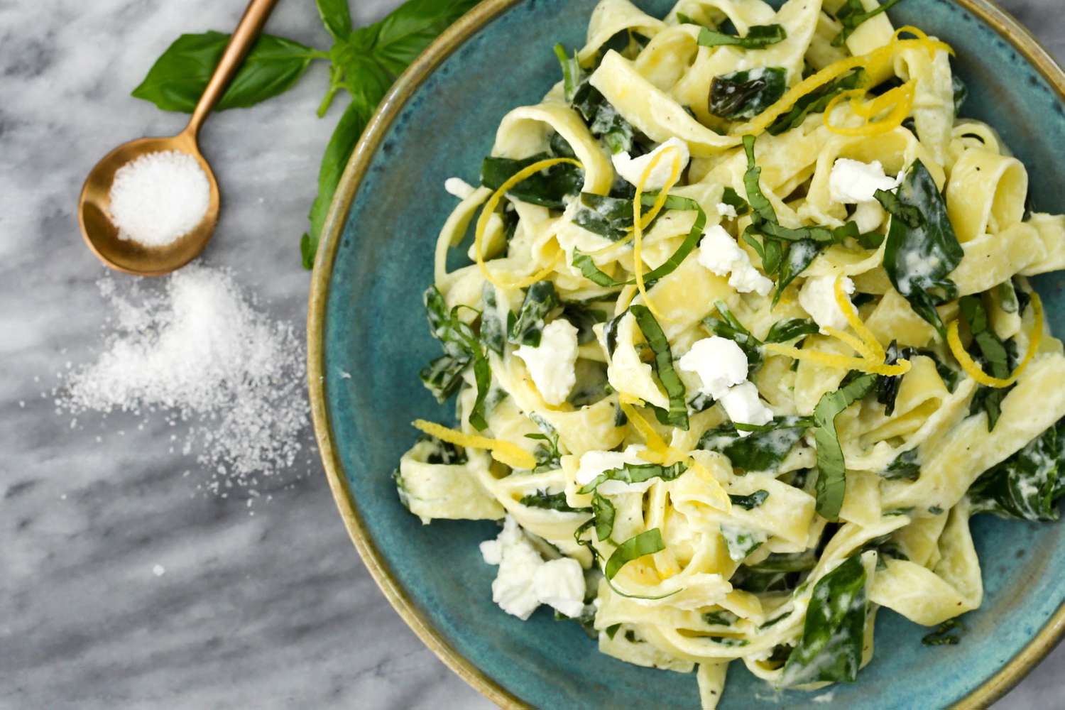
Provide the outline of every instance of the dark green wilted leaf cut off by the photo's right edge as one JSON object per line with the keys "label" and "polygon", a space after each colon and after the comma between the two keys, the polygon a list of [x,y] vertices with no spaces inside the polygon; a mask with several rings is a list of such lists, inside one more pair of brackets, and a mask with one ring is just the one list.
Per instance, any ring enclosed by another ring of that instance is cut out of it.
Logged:
{"label": "dark green wilted leaf cut off by the photo's right edge", "polygon": [[1065,493],[1065,419],[1061,419],[969,489],[973,511],[1025,521],[1056,521],[1055,500]]}

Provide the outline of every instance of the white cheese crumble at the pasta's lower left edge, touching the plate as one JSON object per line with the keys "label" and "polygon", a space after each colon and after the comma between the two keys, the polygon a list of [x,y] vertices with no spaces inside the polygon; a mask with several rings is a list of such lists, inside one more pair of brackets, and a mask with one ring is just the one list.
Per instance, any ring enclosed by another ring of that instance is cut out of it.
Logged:
{"label": "white cheese crumble at the pasta's lower left edge, touching the plate", "polygon": [[541,604],[567,616],[579,616],[584,610],[580,563],[570,558],[544,562],[510,515],[495,540],[480,544],[480,554],[485,562],[499,566],[492,582],[492,601],[508,614],[526,620]]}

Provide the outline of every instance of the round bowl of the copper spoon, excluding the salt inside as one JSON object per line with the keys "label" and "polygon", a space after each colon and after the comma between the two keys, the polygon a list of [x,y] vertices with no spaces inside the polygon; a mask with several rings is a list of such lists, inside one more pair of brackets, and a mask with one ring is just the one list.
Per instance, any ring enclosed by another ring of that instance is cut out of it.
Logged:
{"label": "round bowl of the copper spoon, excluding the salt inside", "polygon": [[[147,153],[176,150],[196,159],[211,186],[207,212],[199,224],[170,244],[145,246],[122,238],[110,217],[111,183],[118,168]],[[137,138],[118,146],[92,169],[78,200],[78,224],[85,244],[111,268],[136,276],[163,276],[181,268],[203,251],[218,221],[218,183],[189,131],[167,138]]]}

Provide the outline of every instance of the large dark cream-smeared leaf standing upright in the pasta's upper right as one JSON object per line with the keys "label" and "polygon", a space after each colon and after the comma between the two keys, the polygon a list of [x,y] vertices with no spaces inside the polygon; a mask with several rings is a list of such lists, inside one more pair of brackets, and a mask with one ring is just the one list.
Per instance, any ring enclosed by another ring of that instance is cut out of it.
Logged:
{"label": "large dark cream-smeared leaf standing upright in the pasta's upper right", "polygon": [[897,195],[879,189],[876,199],[891,214],[884,245],[887,278],[914,311],[946,340],[935,307],[957,297],[957,286],[947,277],[965,252],[954,235],[943,195],[918,160]]}

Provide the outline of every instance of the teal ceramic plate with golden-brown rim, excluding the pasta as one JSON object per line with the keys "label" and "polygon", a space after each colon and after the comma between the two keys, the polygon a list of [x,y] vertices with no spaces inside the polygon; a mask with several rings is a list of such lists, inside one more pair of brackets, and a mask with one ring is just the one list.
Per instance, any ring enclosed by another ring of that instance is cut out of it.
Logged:
{"label": "teal ceramic plate with golden-brown rim, excluding the pasta", "polygon": [[[661,17],[671,3],[638,4]],[[399,505],[390,476],[415,436],[413,418],[453,417],[417,378],[439,354],[421,298],[432,278],[437,232],[454,204],[443,181],[456,175],[477,181],[499,119],[537,102],[557,81],[551,48],[581,45],[593,5],[488,0],[438,40],[382,104],[338,191],[315,266],[309,316],[315,426],[338,506],[371,572],[414,630],[478,690],[511,707],[698,708],[693,676],[603,656],[577,625],[555,622],[544,609],[528,622],[501,611],[491,598],[495,568],[477,549],[498,528],[423,527]],[[1049,56],[984,0],[906,0],[891,16],[955,48],[956,70],[970,90],[963,114],[992,123],[1023,161],[1034,207],[1061,212],[1065,77]],[[1054,331],[1065,332],[1061,277],[1036,284]],[[983,515],[972,527],[985,598],[966,616],[962,643],[924,647],[927,629],[882,610],[872,663],[857,682],[834,687],[834,704],[985,706],[1052,647],[1065,616],[1065,524]],[[782,704],[823,707],[812,694],[776,694],[733,664],[722,708]]]}

